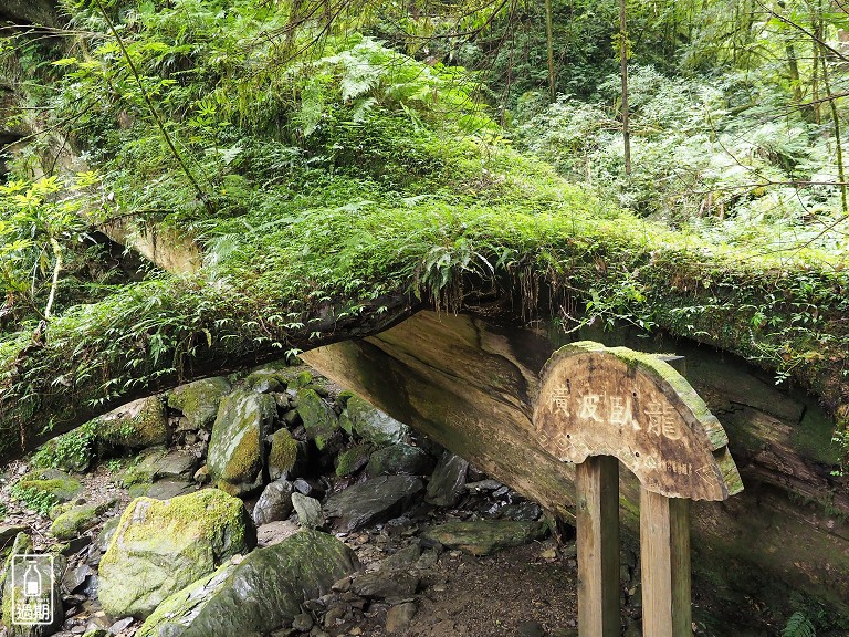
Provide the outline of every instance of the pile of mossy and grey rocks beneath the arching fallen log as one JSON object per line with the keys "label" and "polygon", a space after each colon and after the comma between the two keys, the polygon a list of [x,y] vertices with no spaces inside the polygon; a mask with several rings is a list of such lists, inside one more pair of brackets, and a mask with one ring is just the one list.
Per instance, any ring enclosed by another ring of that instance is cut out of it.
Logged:
{"label": "pile of mossy and grey rocks beneath the arching fallen log", "polygon": [[[165,428],[140,432],[139,414]],[[8,635],[401,635],[460,552],[548,533],[537,504],[304,367],[199,380],[99,422],[108,440],[95,428],[75,463],[90,473],[7,480],[21,524],[0,545],[61,556],[62,602],[54,626]],[[66,467],[69,436],[34,460]],[[42,500],[49,529],[24,510]]]}

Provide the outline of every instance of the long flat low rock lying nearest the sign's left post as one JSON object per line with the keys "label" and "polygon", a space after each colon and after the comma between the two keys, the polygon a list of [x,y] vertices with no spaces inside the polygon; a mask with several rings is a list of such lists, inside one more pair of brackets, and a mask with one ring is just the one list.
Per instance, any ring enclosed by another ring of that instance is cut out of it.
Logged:
{"label": "long flat low rock lying nearest the sign's left post", "polygon": [[545,522],[514,522],[512,520],[479,520],[447,522],[424,531],[421,536],[450,549],[460,549],[472,555],[489,555],[502,549],[521,546],[548,534]]}

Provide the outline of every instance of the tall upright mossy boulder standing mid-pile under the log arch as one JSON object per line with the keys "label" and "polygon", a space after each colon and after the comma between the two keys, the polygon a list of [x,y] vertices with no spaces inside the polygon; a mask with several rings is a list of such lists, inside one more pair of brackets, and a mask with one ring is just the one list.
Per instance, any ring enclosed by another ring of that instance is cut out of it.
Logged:
{"label": "tall upright mossy boulder standing mid-pile under the log arch", "polygon": [[276,414],[268,394],[237,389],[221,400],[207,457],[209,474],[220,489],[240,495],[261,485],[263,440]]}

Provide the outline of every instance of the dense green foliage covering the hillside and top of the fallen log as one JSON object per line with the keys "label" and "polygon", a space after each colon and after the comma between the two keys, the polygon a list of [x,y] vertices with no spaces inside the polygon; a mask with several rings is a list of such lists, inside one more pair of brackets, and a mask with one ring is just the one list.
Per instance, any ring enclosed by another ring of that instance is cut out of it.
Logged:
{"label": "dense green foliage covering the hillside and top of the fallen log", "polygon": [[[553,104],[536,7],[69,6],[61,56],[27,44],[52,90],[19,88],[81,153],[75,184],[2,192],[3,292],[29,304],[0,342],[4,445],[205,365],[497,297],[566,330],[629,322],[721,346],[845,418],[841,192],[811,184],[840,168],[834,122],[816,108],[775,119],[798,84],[765,73],[797,33],[740,0],[748,30],[725,15],[734,36],[712,39],[721,4],[635,6],[631,177],[611,2],[555,3],[569,93]],[[706,69],[724,73],[693,75]],[[17,170],[39,164],[31,153]],[[57,258],[108,220],[176,228],[203,265],[66,294],[51,316],[50,291],[67,285]]]}

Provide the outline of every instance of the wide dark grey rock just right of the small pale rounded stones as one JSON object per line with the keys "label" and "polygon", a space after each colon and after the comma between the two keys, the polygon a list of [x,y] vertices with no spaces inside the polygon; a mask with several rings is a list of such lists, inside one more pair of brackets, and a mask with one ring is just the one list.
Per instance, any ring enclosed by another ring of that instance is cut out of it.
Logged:
{"label": "wide dark grey rock just right of the small pale rounded stones", "polygon": [[350,532],[395,518],[423,490],[419,478],[381,476],[334,493],[325,501],[324,512],[336,519],[336,530]]}

